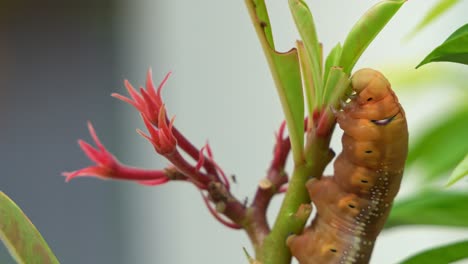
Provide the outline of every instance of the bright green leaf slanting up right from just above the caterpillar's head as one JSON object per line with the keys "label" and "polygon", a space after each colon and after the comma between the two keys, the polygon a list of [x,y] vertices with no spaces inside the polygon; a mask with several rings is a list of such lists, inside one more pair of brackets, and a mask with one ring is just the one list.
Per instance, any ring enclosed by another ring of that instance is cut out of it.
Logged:
{"label": "bright green leaf slanting up right from just above the caterpillar's head", "polygon": [[364,50],[390,21],[406,0],[381,1],[369,9],[353,26],[343,44],[341,61],[345,73],[350,74]]}

